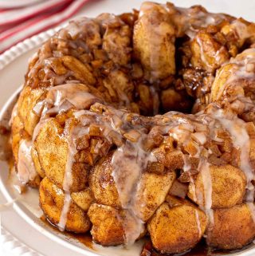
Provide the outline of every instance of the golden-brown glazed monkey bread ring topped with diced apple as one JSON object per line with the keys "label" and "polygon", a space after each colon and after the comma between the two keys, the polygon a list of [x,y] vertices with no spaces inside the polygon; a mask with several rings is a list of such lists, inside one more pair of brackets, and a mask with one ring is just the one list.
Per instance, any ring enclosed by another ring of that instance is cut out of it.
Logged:
{"label": "golden-brown glazed monkey bread ring topped with diced apple", "polygon": [[60,230],[182,253],[255,237],[255,24],[144,2],[79,18],[29,61],[19,179]]}

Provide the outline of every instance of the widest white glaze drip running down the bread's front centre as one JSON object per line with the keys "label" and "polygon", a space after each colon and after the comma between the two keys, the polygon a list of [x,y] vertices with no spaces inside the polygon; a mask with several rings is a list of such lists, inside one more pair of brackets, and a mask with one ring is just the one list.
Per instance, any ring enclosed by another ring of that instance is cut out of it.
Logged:
{"label": "widest white glaze drip running down the bread's front centre", "polygon": [[131,245],[143,232],[144,224],[135,212],[134,199],[139,186],[139,179],[147,163],[155,162],[155,156],[145,152],[141,142],[126,142],[118,148],[112,156],[112,177],[116,183],[116,188],[120,197],[120,202],[124,209],[128,209],[135,219],[135,229],[124,228],[125,244]]}

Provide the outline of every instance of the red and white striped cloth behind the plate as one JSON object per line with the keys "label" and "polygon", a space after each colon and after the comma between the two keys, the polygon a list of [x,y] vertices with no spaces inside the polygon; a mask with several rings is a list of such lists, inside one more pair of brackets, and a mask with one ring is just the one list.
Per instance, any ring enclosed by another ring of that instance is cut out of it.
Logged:
{"label": "red and white striped cloth behind the plate", "polygon": [[0,9],[0,53],[19,41],[71,18],[89,0],[44,0]]}

